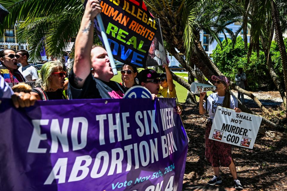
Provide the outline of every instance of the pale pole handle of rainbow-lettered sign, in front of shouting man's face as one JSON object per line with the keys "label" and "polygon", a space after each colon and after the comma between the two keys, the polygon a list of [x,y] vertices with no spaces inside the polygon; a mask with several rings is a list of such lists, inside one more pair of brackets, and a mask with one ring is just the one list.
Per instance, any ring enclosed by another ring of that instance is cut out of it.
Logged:
{"label": "pale pole handle of rainbow-lettered sign, in front of shouting man's face", "polygon": [[117,75],[117,68],[116,68],[116,65],[115,65],[115,60],[114,60],[114,57],[113,57],[113,54],[112,54],[111,47],[109,45],[108,37],[106,35],[106,31],[105,31],[105,27],[104,27],[104,24],[103,24],[103,20],[102,20],[101,14],[97,14],[96,17],[97,17],[97,21],[98,21],[99,26],[100,26],[101,35],[102,35],[103,42],[104,42],[106,51],[108,53],[109,59],[110,59],[110,64],[111,64],[113,73],[114,73],[114,75]]}

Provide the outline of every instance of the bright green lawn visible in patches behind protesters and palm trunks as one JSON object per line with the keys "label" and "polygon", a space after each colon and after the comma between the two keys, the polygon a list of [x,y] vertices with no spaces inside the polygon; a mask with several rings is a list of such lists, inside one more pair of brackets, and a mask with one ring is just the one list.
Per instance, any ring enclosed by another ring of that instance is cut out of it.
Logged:
{"label": "bright green lawn visible in patches behind protesters and palm trunks", "polygon": [[[118,75],[114,76],[111,80],[113,81],[117,81],[117,82],[122,82],[121,80],[121,75],[120,75],[120,71],[117,72]],[[187,73],[175,73],[177,76],[181,76],[181,75],[187,75]],[[187,76],[186,76],[187,77]],[[182,78],[184,79],[184,78]],[[187,79],[184,79],[187,82]],[[176,95],[178,98],[179,102],[185,102],[186,100],[186,96],[187,96],[187,89],[183,86],[181,86],[180,84],[178,84],[176,81],[173,81],[173,83],[175,84],[175,90],[176,90]],[[212,92],[207,92],[207,96],[209,96]],[[196,100],[199,101],[199,97],[196,96]]]}

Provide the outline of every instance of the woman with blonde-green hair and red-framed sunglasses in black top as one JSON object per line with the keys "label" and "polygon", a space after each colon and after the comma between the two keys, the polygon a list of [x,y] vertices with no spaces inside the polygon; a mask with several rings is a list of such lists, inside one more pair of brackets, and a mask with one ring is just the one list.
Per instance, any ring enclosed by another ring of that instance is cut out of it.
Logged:
{"label": "woman with blonde-green hair and red-framed sunglasses in black top", "polygon": [[37,100],[67,99],[64,90],[68,87],[68,80],[66,81],[65,77],[66,73],[60,61],[46,62],[31,94],[36,96]]}

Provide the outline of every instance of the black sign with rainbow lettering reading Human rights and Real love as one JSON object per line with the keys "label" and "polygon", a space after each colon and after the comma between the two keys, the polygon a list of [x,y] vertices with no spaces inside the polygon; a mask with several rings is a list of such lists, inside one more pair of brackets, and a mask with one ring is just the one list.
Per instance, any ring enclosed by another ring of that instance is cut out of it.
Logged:
{"label": "black sign with rainbow lettering reading Human rights and Real love", "polygon": [[[86,2],[85,4],[86,5]],[[158,25],[142,0],[102,0],[101,17],[112,55],[134,67],[146,67],[146,57]],[[94,19],[101,41],[101,30]]]}

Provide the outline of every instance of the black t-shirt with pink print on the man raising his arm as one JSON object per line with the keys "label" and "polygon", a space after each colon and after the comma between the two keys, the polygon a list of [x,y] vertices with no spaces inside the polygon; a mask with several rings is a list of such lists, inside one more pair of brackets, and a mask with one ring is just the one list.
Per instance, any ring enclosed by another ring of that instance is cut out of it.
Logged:
{"label": "black t-shirt with pink print on the man raising his arm", "polygon": [[73,70],[69,76],[69,99],[122,98],[126,88],[115,81],[103,81],[88,75],[82,89],[75,88]]}

